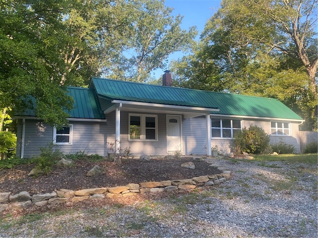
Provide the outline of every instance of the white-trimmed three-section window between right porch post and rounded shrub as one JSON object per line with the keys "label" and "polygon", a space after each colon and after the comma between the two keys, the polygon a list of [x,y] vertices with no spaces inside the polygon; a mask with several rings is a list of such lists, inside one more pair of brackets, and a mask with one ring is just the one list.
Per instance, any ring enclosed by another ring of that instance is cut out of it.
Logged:
{"label": "white-trimmed three-section window between right porch post and rounded shrub", "polygon": [[241,121],[232,119],[211,119],[212,138],[231,139],[235,133],[241,130]]}

